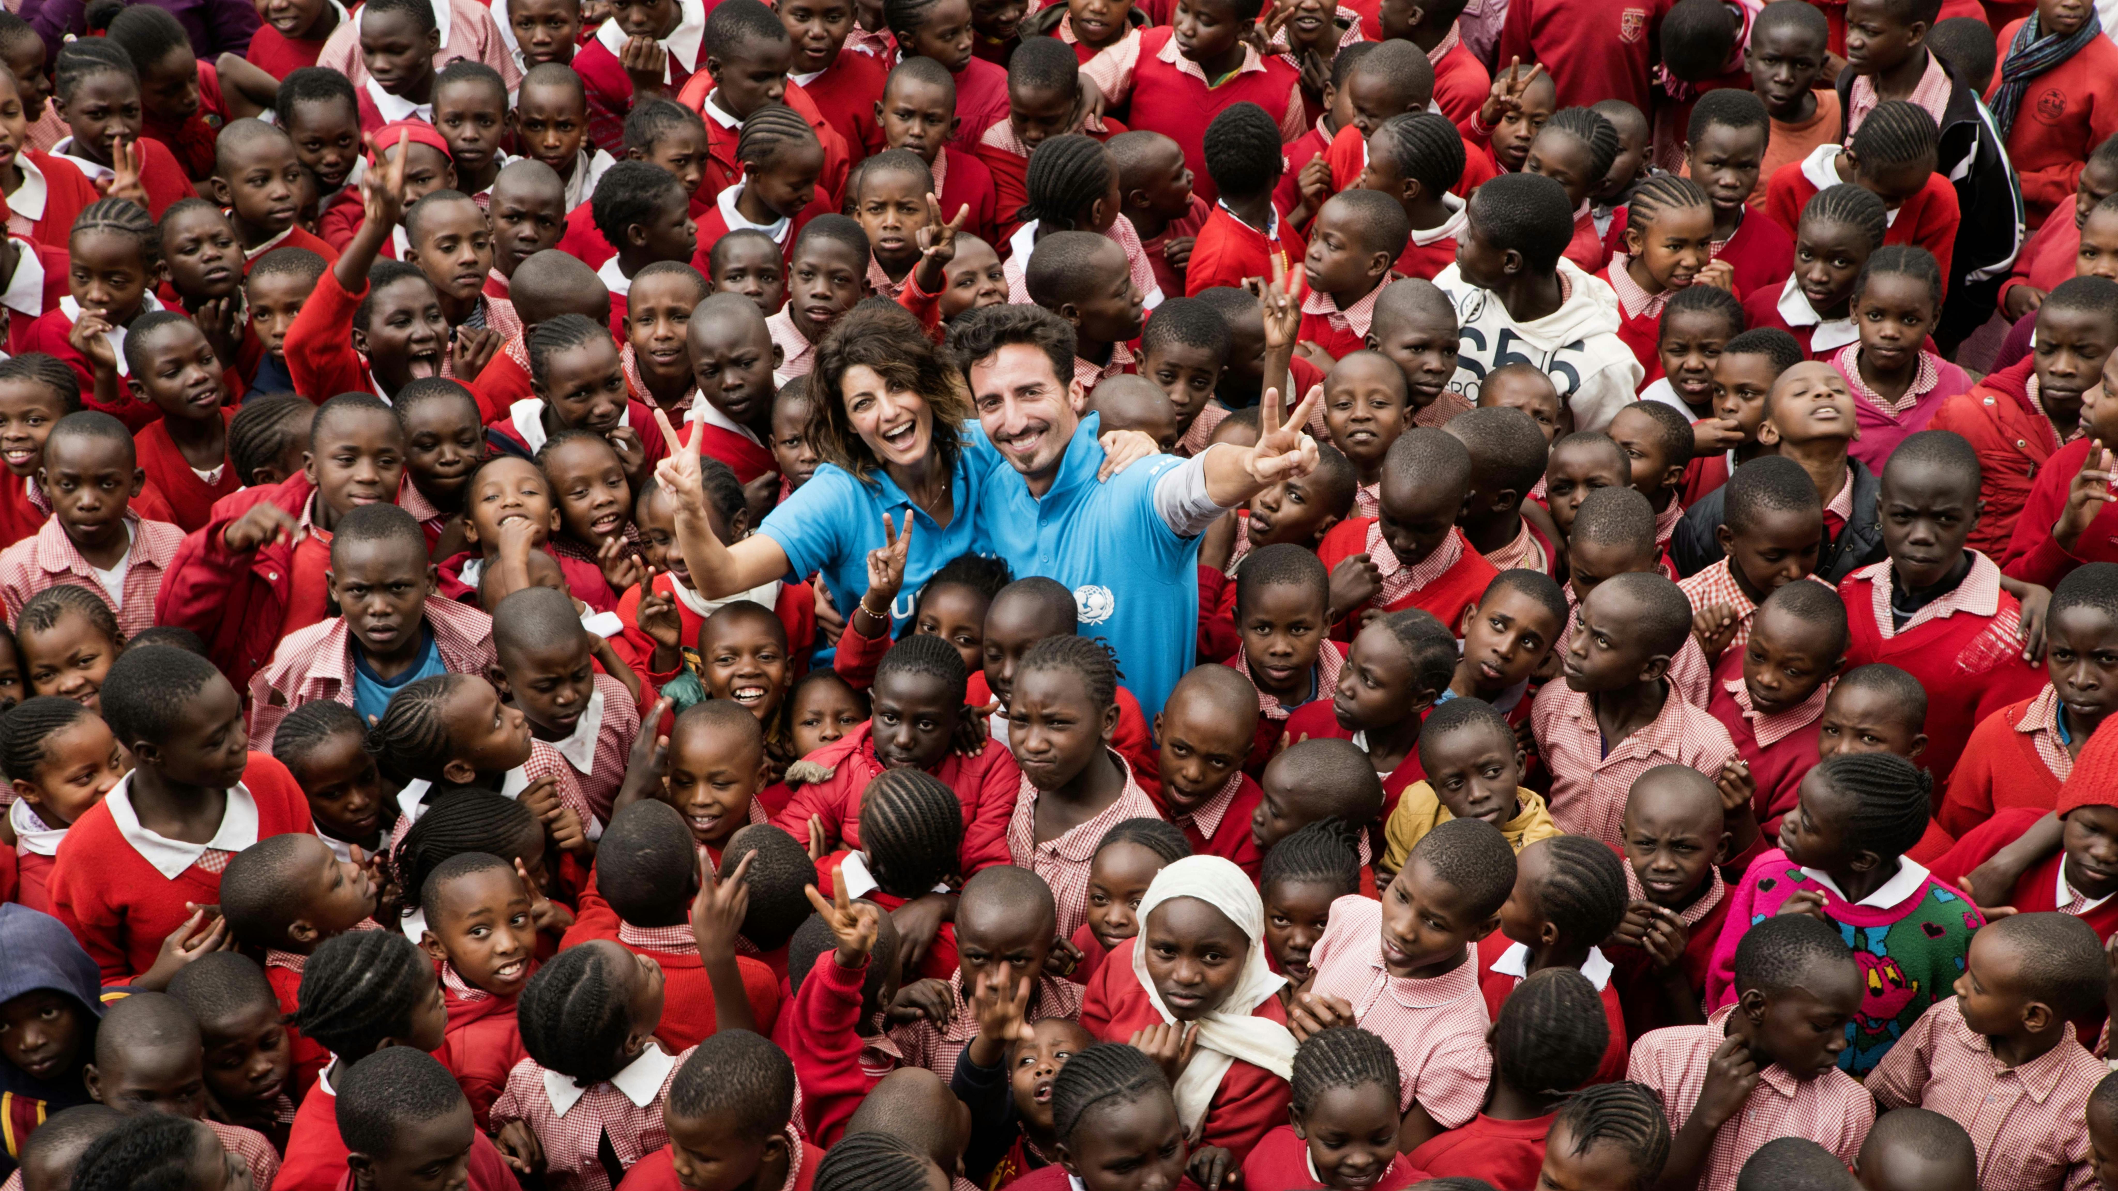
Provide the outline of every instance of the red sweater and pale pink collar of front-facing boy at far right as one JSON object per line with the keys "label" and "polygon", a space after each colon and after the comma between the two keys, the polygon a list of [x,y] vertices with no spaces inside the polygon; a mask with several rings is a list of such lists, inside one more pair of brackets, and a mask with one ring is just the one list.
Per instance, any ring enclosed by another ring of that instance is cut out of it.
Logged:
{"label": "red sweater and pale pink collar of front-facing boy at far right", "polygon": [[1946,596],[1919,608],[1902,627],[1891,619],[1891,564],[1855,570],[1838,585],[1851,642],[1847,670],[1887,661],[1927,691],[1927,750],[1921,765],[1949,782],[1972,729],[1995,710],[2035,695],[2044,668],[2023,661],[2021,606],[1999,589],[1999,568],[1972,551],[1972,570]]}

